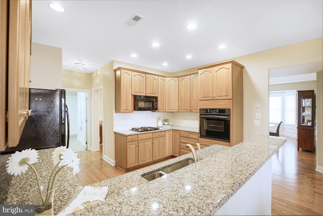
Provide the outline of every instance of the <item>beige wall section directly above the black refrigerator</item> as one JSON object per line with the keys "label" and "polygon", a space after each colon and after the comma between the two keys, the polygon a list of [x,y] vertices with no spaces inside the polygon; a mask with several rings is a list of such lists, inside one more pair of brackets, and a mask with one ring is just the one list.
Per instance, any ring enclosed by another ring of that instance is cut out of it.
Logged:
{"label": "beige wall section directly above the black refrigerator", "polygon": [[62,49],[31,43],[30,88],[62,88]]}

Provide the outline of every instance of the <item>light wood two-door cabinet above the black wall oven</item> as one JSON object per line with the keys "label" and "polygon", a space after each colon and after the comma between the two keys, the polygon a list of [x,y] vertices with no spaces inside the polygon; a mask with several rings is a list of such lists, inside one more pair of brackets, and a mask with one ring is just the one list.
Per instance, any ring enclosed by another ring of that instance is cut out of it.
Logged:
{"label": "light wood two-door cabinet above the black wall oven", "polygon": [[234,76],[242,74],[242,68],[235,61],[199,68],[199,100],[232,99],[233,82],[242,83]]}

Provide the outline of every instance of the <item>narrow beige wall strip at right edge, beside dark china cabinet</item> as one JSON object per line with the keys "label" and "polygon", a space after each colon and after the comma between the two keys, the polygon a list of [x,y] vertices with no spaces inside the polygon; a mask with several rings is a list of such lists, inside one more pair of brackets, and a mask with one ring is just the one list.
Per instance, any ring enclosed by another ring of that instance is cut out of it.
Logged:
{"label": "narrow beige wall strip at right edge, beside dark china cabinet", "polygon": [[323,172],[323,72],[316,73],[316,170]]}

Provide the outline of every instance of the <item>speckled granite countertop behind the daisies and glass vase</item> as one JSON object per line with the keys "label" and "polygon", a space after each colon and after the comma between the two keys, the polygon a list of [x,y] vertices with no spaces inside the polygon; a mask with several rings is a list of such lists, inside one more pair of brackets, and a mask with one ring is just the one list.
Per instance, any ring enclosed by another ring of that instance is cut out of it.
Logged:
{"label": "speckled granite countertop behind the daisies and glass vase", "polygon": [[[37,150],[38,162],[33,167],[38,173],[40,185],[47,185],[52,171],[52,152],[55,148]],[[0,156],[0,203],[1,204],[32,204],[29,192],[37,186],[35,174],[29,168],[26,173],[11,176],[6,171],[6,161],[12,154]],[[59,213],[73,198],[74,194],[82,189],[81,183],[73,176],[71,168],[62,169],[55,181],[54,214]]]}

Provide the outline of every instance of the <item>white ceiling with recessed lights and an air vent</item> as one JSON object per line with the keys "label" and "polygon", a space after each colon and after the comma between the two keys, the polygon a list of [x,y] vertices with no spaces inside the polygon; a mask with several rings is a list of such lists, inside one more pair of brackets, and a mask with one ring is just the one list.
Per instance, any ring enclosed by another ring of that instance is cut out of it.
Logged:
{"label": "white ceiling with recessed lights and an air vent", "polygon": [[[52,11],[52,2],[65,12]],[[65,70],[90,73],[117,60],[176,72],[322,37],[322,7],[322,1],[33,0],[32,41],[62,48]],[[144,19],[126,25],[135,13]],[[185,28],[190,22],[195,30]],[[74,67],[79,62],[84,69]]]}

